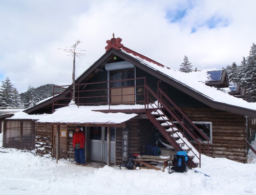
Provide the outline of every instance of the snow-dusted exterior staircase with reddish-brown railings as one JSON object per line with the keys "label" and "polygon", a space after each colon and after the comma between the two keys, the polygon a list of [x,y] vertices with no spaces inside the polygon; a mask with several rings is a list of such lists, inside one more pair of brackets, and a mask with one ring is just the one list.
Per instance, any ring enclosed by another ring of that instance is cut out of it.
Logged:
{"label": "snow-dusted exterior staircase with reddish-brown railings", "polygon": [[[201,150],[207,149],[206,153],[209,154],[209,139],[202,134],[198,127],[161,89],[158,88],[158,95],[148,88],[148,86],[145,86],[145,91],[147,101],[146,116],[148,119],[151,120],[158,131],[176,151],[184,150],[187,152],[189,157],[187,165],[190,168],[195,168],[198,165],[201,167]],[[175,124],[179,124],[181,127],[178,128]],[[200,139],[195,133],[196,131],[206,141]],[[199,150],[189,140],[194,140],[198,144]]]}

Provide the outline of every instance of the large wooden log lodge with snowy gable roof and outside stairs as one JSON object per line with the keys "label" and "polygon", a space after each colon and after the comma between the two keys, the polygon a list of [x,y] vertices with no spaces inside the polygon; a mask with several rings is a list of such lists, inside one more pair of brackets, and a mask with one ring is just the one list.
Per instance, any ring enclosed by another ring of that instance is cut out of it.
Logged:
{"label": "large wooden log lodge with snowy gable roof and outside stairs", "polygon": [[[226,71],[221,70],[218,79],[215,73],[198,71],[195,74],[205,78],[208,74],[210,79],[189,80],[186,74],[190,73],[165,67],[121,41],[114,35],[106,41],[105,53],[74,85],[55,86],[64,92],[30,107],[24,116],[1,115],[4,147],[66,158],[72,151],[75,126],[80,125],[86,135],[86,161],[120,165],[132,154],[142,154],[158,129],[164,144],[187,151],[190,167],[201,165],[201,154],[247,163],[256,109],[219,90],[229,86]],[[69,112],[65,115],[72,102],[77,118],[84,116],[88,121],[79,121]],[[97,114],[91,119],[89,111],[125,117],[95,122]]]}

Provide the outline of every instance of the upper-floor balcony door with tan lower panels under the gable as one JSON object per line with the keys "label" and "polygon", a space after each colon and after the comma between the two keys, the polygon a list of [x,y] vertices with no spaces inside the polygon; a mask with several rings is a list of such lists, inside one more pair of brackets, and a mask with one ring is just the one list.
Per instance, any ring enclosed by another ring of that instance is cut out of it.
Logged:
{"label": "upper-floor balcony door with tan lower panels under the gable", "polygon": [[113,104],[135,104],[135,81],[122,79],[135,78],[134,69],[118,70],[110,72],[111,103]]}

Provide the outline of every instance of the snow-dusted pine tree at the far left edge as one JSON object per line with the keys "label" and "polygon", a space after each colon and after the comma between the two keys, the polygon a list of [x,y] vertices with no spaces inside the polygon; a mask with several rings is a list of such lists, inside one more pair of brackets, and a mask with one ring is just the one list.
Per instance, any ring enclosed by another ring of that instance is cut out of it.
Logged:
{"label": "snow-dusted pine tree at the far left edge", "polygon": [[3,107],[22,107],[18,91],[14,88],[9,77],[2,81],[0,100],[0,105]]}

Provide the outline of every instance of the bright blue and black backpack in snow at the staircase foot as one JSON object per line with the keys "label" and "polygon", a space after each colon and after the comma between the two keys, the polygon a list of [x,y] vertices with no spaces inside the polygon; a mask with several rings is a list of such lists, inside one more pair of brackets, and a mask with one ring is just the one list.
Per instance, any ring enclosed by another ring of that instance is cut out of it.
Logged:
{"label": "bright blue and black backpack in snow at the staircase foot", "polygon": [[[177,151],[177,154],[174,155],[174,163],[173,167],[171,168],[173,170],[172,172],[185,172],[186,174],[187,160],[188,156],[186,151]],[[169,172],[169,174],[172,172]]]}

